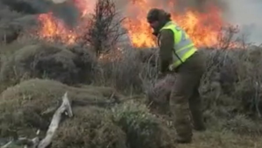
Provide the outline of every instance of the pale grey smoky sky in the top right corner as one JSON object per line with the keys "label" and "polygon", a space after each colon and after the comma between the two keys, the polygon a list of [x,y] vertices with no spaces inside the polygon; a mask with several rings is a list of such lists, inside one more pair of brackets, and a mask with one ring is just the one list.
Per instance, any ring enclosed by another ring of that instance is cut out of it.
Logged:
{"label": "pale grey smoky sky in the top right corner", "polygon": [[262,43],[262,1],[261,0],[230,0],[225,20],[238,24],[241,34],[248,35],[249,42],[257,45]]}

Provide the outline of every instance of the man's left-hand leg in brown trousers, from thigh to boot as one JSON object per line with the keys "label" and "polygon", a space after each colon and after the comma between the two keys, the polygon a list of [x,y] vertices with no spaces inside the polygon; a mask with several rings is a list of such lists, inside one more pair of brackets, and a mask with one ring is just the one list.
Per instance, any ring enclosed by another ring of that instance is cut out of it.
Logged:
{"label": "man's left-hand leg in brown trousers, from thigh to boot", "polygon": [[[193,85],[194,86],[194,85]],[[177,142],[189,143],[192,140],[192,126],[188,100],[193,92],[192,74],[178,73],[170,96],[170,111],[174,115]]]}

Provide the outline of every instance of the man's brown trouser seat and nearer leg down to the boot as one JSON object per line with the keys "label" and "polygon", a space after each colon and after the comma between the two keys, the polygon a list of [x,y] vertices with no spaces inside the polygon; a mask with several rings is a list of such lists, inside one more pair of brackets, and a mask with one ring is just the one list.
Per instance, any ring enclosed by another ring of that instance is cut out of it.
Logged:
{"label": "man's brown trouser seat and nearer leg down to the boot", "polygon": [[178,142],[192,140],[189,100],[196,93],[195,89],[199,86],[204,69],[204,57],[197,51],[176,70],[176,80],[170,96],[170,110],[175,116],[174,125],[178,133]]}

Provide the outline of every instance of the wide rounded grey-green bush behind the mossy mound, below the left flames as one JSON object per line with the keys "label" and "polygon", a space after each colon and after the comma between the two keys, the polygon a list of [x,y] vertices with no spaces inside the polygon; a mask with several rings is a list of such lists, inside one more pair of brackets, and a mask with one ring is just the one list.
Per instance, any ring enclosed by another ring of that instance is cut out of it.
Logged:
{"label": "wide rounded grey-green bush behind the mossy mound, below the left flames", "polygon": [[6,84],[36,77],[65,84],[90,83],[94,64],[87,50],[45,43],[17,48],[13,54],[2,57],[0,80]]}

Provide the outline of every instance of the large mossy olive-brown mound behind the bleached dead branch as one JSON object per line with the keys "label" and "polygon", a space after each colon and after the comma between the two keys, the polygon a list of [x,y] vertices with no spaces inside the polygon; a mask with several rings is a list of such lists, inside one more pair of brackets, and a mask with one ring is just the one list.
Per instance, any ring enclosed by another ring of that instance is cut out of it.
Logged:
{"label": "large mossy olive-brown mound behind the bleached dead branch", "polygon": [[[93,103],[118,98],[114,89],[85,86],[70,87],[57,81],[32,79],[6,89],[0,98],[0,135],[35,136],[37,129],[46,131],[62,95],[68,91],[72,105],[76,101]],[[81,104],[80,104],[81,105]],[[83,104],[82,104],[83,105]],[[11,134],[11,135],[10,135]]]}

